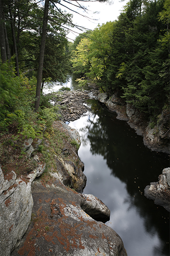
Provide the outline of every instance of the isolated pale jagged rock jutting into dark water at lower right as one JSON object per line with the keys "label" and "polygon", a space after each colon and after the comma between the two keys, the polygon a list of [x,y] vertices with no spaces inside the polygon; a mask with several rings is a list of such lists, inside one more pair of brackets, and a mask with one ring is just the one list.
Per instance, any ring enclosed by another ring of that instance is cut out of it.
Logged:
{"label": "isolated pale jagged rock jutting into dark water at lower right", "polygon": [[151,182],[144,189],[144,195],[155,204],[163,206],[170,212],[170,168],[165,168],[159,175],[158,182]]}

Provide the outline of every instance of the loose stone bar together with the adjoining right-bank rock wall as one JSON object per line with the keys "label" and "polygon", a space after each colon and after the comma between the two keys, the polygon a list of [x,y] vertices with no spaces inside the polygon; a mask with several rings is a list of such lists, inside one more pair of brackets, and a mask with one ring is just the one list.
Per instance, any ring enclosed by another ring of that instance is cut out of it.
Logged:
{"label": "loose stone bar together with the adjoining right-bank rock wall", "polygon": [[170,153],[170,113],[162,111],[156,125],[150,119],[146,119],[132,105],[126,104],[117,94],[110,98],[107,93],[99,93],[98,90],[91,91],[64,91],[63,93],[52,93],[54,105],[59,105],[63,122],[78,119],[88,111],[85,104],[89,98],[98,99],[104,103],[109,111],[117,113],[117,119],[125,120],[138,135],[142,135],[144,145],[153,151]]}

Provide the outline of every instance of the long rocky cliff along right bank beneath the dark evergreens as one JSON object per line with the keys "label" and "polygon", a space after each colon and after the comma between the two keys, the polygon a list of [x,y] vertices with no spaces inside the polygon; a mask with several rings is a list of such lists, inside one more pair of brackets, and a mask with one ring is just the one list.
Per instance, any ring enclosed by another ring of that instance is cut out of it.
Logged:
{"label": "long rocky cliff along right bank beneath the dark evergreens", "polygon": [[143,136],[144,145],[153,151],[170,153],[170,113],[163,110],[156,125],[147,121],[136,108],[120,99],[116,93],[108,98],[107,93],[100,93],[100,102],[104,103],[110,111],[118,114],[117,118],[128,122],[136,133]]}

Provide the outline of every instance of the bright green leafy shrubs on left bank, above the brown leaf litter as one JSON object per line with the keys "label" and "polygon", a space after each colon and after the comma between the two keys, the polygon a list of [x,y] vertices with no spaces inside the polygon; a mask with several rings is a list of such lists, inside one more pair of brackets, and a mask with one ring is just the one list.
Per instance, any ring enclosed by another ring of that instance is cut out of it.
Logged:
{"label": "bright green leafy shrubs on left bank, above the brown leaf litter", "polygon": [[[50,96],[43,96],[39,113],[34,112],[37,79],[15,76],[12,62],[1,64],[0,128],[17,132],[24,139],[42,137],[45,126],[60,118],[59,109],[51,106]],[[48,107],[48,108],[47,108]]]}

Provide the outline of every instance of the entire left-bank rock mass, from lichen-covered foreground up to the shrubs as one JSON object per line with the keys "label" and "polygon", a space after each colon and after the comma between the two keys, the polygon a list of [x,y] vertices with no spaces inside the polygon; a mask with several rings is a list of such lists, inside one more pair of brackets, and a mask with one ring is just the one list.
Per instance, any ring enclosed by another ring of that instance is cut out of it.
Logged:
{"label": "entire left-bank rock mass, from lichen-covered foreground up to the shrubs", "polygon": [[[126,256],[122,239],[104,224],[110,218],[108,207],[81,194],[86,177],[75,147],[79,134],[61,121],[53,128],[66,136],[48,172],[42,175],[45,164],[34,155],[33,140],[24,147],[39,163],[37,169],[21,177],[0,169],[0,255]],[[52,147],[48,140],[44,146],[46,152]]]}

